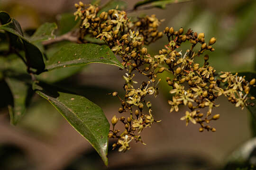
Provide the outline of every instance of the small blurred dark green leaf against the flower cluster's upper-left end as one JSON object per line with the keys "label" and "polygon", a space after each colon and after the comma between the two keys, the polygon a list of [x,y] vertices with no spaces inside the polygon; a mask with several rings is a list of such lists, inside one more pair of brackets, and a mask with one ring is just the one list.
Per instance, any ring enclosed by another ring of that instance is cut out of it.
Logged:
{"label": "small blurred dark green leaf against the flower cluster's upper-left end", "polygon": [[79,19],[75,20],[75,16],[73,13],[64,13],[64,14],[60,14],[57,16],[57,24],[58,24],[58,34],[62,35],[65,34],[71,30],[73,30],[73,28],[75,28],[78,23],[79,23]]}

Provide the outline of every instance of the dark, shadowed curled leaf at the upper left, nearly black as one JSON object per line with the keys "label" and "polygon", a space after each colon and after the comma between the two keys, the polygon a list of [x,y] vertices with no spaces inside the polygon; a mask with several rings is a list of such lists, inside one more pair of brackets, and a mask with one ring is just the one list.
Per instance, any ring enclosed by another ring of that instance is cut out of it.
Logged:
{"label": "dark, shadowed curled leaf at the upper left, nearly black", "polygon": [[[6,21],[7,17],[9,15],[6,12],[1,11],[0,12],[0,20]],[[31,68],[36,69],[37,74],[43,72],[45,69],[45,63],[43,60],[43,54],[42,52],[37,48],[36,45],[32,44],[29,40],[27,40],[23,36],[23,32],[21,30],[21,27],[18,23],[13,18],[8,19],[8,23],[3,24],[0,26],[0,30],[4,30],[11,35],[11,42],[19,42],[19,38],[21,39],[23,43],[23,50],[26,53],[26,60],[27,60],[27,65]],[[16,39],[16,41],[15,41]],[[20,43],[17,44],[16,46],[20,47],[22,46]]]}

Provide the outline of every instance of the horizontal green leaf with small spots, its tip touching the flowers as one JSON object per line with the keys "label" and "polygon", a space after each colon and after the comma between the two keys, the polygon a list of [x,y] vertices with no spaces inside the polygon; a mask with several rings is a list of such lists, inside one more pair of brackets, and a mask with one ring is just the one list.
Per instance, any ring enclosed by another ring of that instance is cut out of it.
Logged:
{"label": "horizontal green leaf with small spots, its tip touching the flowers", "polygon": [[46,69],[84,66],[90,63],[111,64],[123,68],[107,45],[67,44],[46,61]]}

